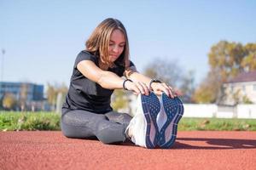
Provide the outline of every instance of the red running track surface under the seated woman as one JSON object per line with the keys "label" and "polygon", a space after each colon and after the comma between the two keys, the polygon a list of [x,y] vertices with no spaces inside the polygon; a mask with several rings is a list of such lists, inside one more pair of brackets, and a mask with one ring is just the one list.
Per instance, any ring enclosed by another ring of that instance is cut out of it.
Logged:
{"label": "red running track surface under the seated woman", "polygon": [[61,132],[0,132],[0,169],[255,169],[256,132],[178,132],[170,150],[148,150]]}

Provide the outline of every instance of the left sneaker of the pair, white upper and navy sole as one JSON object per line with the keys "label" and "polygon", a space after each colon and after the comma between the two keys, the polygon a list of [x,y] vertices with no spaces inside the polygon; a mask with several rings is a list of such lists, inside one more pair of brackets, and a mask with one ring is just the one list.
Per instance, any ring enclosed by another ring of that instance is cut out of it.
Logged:
{"label": "left sneaker of the pair, white upper and navy sole", "polygon": [[154,93],[138,95],[137,112],[126,129],[134,144],[150,149],[155,147],[158,143],[156,116],[159,112],[160,101]]}

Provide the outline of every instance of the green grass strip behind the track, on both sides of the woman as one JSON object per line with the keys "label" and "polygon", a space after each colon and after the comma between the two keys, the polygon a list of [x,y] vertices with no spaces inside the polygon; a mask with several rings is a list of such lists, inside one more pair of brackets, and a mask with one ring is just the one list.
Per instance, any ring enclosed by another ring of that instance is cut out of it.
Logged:
{"label": "green grass strip behind the track, on both sides of the woman", "polygon": [[[60,120],[55,112],[0,111],[0,131],[61,130]],[[178,130],[256,131],[256,120],[183,117]]]}

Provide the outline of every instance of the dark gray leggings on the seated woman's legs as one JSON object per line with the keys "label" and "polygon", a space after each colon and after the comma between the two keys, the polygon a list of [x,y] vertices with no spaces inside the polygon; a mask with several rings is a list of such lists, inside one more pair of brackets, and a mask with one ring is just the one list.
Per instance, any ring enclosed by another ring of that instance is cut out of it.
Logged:
{"label": "dark gray leggings on the seated woman's legs", "polygon": [[90,111],[65,111],[61,116],[61,131],[67,138],[94,139],[104,144],[124,142],[125,129],[131,116],[109,111],[96,114]]}

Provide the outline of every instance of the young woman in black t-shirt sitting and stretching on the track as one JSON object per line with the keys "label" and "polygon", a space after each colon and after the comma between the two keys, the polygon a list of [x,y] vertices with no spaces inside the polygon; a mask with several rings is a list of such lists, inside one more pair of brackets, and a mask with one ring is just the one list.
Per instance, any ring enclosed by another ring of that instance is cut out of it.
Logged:
{"label": "young woman in black t-shirt sitting and stretching on the track", "polygon": [[[138,94],[139,102],[146,99],[147,102],[157,103],[154,104],[157,107],[160,102],[155,94],[164,93],[170,99],[175,97],[172,87],[166,83],[137,72],[129,59],[125,27],[119,20],[109,18],[96,27],[86,42],[86,49],[75,59],[70,86],[62,106],[62,133],[67,138],[96,137],[104,144],[120,143],[129,138],[138,145],[154,148],[159,138],[158,132],[155,132],[159,131],[155,118],[158,113],[149,111],[154,120],[147,121],[145,108],[141,110],[143,114],[138,114],[140,118],[113,111],[110,106],[111,94],[114,89],[122,88]],[[144,125],[140,126],[142,122]],[[143,130],[135,135],[135,127]],[[149,133],[151,139],[146,137]],[[143,140],[142,144],[138,140]]]}

